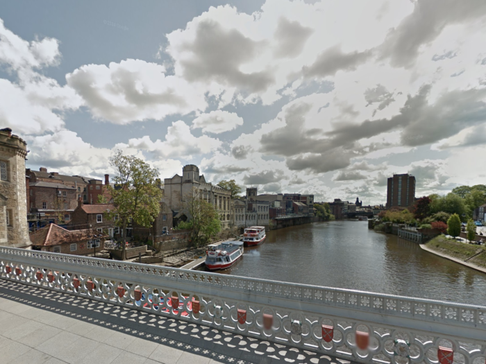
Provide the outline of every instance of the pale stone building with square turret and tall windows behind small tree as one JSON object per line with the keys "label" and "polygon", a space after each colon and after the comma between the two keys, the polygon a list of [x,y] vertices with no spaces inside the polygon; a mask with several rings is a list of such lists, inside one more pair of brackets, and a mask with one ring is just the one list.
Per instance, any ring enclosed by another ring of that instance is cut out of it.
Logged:
{"label": "pale stone building with square turret and tall windows behind small tree", "polygon": [[185,202],[198,194],[203,200],[214,205],[221,228],[227,229],[233,226],[233,202],[231,191],[206,182],[204,175],[199,175],[199,168],[194,164],[183,167],[183,175],[174,175],[164,180],[165,203],[174,211],[174,225],[178,220],[191,218],[185,208]]}

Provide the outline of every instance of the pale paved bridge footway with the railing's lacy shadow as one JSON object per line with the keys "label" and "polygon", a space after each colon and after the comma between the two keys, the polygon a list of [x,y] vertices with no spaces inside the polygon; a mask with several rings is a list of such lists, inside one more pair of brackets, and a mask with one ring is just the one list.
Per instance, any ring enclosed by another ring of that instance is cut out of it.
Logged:
{"label": "pale paved bridge footway with the railing's lacy shadow", "polygon": [[0,363],[349,363],[0,279]]}

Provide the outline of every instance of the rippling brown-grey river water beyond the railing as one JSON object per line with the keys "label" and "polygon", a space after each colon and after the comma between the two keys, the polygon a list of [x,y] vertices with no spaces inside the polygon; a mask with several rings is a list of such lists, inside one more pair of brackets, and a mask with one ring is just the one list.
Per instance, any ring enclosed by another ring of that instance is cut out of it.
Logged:
{"label": "rippling brown-grey river water beyond the railing", "polygon": [[224,274],[486,304],[486,274],[421,250],[417,243],[339,220],[267,232]]}

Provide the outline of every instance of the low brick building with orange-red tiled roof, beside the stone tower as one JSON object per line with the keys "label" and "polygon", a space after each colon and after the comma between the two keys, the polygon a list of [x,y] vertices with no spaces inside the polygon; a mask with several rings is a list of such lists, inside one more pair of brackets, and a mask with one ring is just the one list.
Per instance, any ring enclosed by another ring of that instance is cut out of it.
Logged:
{"label": "low brick building with orange-red tiled roof, beside the stone tower", "polygon": [[88,241],[99,239],[97,251],[103,250],[106,234],[100,234],[96,229],[67,230],[55,224],[50,224],[31,234],[33,249],[43,252],[62,254],[87,255],[93,254]]}

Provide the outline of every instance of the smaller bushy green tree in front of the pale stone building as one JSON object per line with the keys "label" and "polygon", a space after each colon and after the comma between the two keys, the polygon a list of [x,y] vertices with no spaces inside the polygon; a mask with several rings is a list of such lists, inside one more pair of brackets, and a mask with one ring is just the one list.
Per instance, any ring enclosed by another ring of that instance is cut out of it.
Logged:
{"label": "smaller bushy green tree in front of the pale stone building", "polygon": [[189,223],[192,223],[191,240],[194,244],[209,241],[221,231],[221,223],[215,207],[203,200],[199,189],[194,188],[189,196],[185,196],[183,208],[190,215]]}

